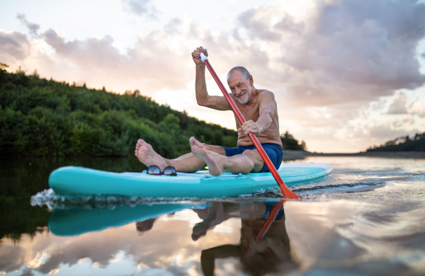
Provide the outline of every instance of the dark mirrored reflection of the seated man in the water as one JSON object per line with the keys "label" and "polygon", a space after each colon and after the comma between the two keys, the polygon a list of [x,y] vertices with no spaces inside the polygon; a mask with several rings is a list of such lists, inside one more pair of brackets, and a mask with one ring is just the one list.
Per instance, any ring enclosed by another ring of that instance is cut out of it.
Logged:
{"label": "dark mirrored reflection of the seated man in the water", "polygon": [[[290,255],[289,237],[285,229],[285,212],[281,202],[212,202],[210,207],[193,207],[202,222],[193,226],[193,241],[206,236],[209,229],[229,218],[242,222],[239,244],[224,244],[205,249],[200,256],[204,275],[214,275],[215,259],[238,258],[242,269],[250,275],[288,272],[297,268]],[[156,219],[136,222],[136,229],[152,229]]]}

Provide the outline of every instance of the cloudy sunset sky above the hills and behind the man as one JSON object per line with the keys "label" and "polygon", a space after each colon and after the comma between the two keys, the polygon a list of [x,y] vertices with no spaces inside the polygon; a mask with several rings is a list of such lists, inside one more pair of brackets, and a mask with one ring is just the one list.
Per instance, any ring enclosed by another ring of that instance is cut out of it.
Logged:
{"label": "cloudy sunset sky above the hills and behind the man", "polygon": [[[196,103],[199,46],[224,84],[244,66],[272,91],[280,132],[310,151],[364,151],[425,132],[425,1],[0,0],[9,71],[138,89],[235,129],[232,112]],[[207,86],[222,95],[208,72]]]}

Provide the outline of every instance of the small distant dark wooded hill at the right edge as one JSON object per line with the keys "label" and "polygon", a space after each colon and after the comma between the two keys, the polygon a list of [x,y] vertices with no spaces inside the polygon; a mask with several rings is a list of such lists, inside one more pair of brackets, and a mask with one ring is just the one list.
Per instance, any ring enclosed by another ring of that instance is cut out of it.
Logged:
{"label": "small distant dark wooded hill at the right edge", "polygon": [[425,132],[416,133],[412,138],[407,135],[390,140],[380,146],[371,146],[367,151],[425,151]]}

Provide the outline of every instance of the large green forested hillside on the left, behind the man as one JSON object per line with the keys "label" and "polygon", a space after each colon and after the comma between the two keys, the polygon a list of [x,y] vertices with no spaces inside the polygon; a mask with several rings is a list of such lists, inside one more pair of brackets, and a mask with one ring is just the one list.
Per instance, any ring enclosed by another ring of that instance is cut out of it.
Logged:
{"label": "large green forested hillside on the left, behind the man", "polygon": [[159,105],[140,91],[108,93],[6,67],[0,64],[1,156],[129,156],[140,138],[166,158],[190,151],[191,136],[237,145],[236,131]]}

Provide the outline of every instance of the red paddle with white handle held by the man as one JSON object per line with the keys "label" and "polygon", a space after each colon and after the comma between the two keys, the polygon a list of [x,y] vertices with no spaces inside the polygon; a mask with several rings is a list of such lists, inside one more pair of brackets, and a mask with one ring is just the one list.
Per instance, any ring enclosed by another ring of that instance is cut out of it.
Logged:
{"label": "red paddle with white handle held by the man", "polygon": [[[205,49],[206,50],[206,49]],[[239,111],[239,108],[237,108],[236,104],[234,104],[233,99],[229,96],[229,93],[227,93],[227,90],[225,86],[222,84],[220,79],[218,79],[217,74],[215,74],[214,69],[212,69],[210,62],[208,61],[208,57],[205,56],[203,52],[200,53],[200,59],[205,64],[205,66],[208,68],[208,71],[210,71],[212,78],[217,83],[218,87],[220,87],[220,90],[222,91],[223,95],[225,96],[227,102],[232,107],[232,110],[234,114],[236,114],[237,118],[239,119],[239,122],[241,122],[242,125],[244,125],[245,118],[242,115],[242,113]],[[278,183],[280,190],[282,190],[282,195],[284,198],[290,198],[298,200],[300,197],[298,197],[295,192],[289,190],[288,187],[286,187],[285,183],[283,182],[282,178],[280,178],[278,171],[274,167],[273,163],[271,163],[270,158],[268,158],[268,155],[266,154],[266,151],[264,151],[263,146],[261,146],[259,139],[255,136],[254,133],[249,133],[249,138],[251,138],[251,141],[254,143],[254,146],[256,147],[257,151],[259,151],[259,154],[261,155],[261,158],[264,160],[264,163],[266,163],[268,169],[271,171],[271,174],[276,179],[276,182]]]}

